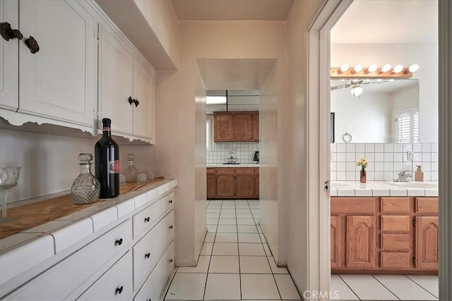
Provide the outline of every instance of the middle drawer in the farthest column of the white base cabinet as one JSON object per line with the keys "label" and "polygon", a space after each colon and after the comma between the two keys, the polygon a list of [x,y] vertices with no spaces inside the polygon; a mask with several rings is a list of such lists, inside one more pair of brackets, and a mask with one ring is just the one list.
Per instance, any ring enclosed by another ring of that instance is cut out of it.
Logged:
{"label": "middle drawer in the farthest column of the white base cabinet", "polygon": [[162,221],[133,246],[133,288],[136,290],[157,264],[174,238],[174,214],[169,212]]}

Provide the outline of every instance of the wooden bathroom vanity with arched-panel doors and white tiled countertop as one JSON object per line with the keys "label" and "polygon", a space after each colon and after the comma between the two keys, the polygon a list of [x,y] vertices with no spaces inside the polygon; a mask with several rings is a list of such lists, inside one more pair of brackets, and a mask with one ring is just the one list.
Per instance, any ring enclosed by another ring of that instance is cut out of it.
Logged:
{"label": "wooden bathroom vanity with arched-panel doors and white tiled countertop", "polygon": [[438,190],[432,185],[333,183],[331,272],[437,274]]}

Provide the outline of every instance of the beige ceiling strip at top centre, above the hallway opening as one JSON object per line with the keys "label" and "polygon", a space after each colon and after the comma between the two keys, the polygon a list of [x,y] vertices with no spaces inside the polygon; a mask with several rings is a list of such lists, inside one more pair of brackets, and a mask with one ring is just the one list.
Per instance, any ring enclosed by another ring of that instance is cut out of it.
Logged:
{"label": "beige ceiling strip at top centre, above the hallway opening", "polygon": [[179,20],[286,20],[293,3],[294,0],[172,0]]}

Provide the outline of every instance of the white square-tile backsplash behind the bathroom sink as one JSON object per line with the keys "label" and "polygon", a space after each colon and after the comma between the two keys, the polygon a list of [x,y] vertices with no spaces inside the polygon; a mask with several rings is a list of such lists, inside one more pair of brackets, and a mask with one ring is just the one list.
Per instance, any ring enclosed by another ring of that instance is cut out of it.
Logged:
{"label": "white square-tile backsplash behind the bathroom sink", "polygon": [[330,156],[331,180],[359,180],[361,158],[369,161],[367,180],[393,180],[400,171],[409,171],[414,180],[416,165],[424,180],[438,180],[438,143],[332,143]]}

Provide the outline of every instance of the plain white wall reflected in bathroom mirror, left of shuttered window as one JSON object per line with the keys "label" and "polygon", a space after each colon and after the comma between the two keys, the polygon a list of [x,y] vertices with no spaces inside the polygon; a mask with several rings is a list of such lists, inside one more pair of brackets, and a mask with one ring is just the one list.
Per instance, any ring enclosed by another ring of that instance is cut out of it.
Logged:
{"label": "plain white wall reflected in bathroom mirror, left of shuttered window", "polygon": [[331,91],[335,142],[344,142],[345,133],[352,135],[352,142],[394,141],[392,107],[389,92],[364,92],[358,98],[350,89]]}

